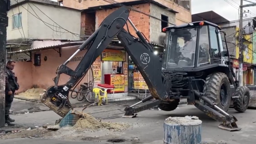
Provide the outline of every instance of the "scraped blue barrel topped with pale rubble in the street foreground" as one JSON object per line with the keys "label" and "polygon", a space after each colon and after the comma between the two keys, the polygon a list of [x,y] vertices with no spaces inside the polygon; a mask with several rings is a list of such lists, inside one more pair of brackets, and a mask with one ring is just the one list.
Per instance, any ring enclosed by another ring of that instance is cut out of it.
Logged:
{"label": "scraped blue barrel topped with pale rubble in the street foreground", "polygon": [[196,116],[166,118],[164,144],[201,144],[201,124]]}

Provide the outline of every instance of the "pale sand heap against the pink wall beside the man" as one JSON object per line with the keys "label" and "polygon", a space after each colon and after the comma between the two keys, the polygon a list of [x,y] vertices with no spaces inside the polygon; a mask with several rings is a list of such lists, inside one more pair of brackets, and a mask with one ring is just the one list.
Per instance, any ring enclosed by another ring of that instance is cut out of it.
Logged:
{"label": "pale sand heap against the pink wall beside the man", "polygon": [[31,88],[31,89],[28,89],[24,93],[20,93],[19,96],[17,96],[17,97],[38,100],[41,98],[40,94],[42,94],[42,93],[44,93],[44,89],[42,89],[42,88]]}

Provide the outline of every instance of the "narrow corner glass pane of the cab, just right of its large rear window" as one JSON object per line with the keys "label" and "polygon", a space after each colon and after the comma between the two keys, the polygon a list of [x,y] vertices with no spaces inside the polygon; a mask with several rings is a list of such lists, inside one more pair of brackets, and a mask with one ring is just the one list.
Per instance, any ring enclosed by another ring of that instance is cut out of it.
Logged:
{"label": "narrow corner glass pane of the cab, just right of its large rear window", "polygon": [[208,38],[208,26],[202,26],[199,35],[199,55],[198,65],[208,64],[210,62],[209,57],[209,38]]}

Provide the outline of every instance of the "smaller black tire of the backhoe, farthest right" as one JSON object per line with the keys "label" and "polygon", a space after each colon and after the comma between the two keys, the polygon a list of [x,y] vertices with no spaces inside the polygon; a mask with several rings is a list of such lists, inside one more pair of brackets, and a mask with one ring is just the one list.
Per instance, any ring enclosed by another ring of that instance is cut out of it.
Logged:
{"label": "smaller black tire of the backhoe, farthest right", "polygon": [[240,113],[247,110],[250,103],[250,89],[246,86],[240,86],[236,89],[233,96],[234,109]]}

